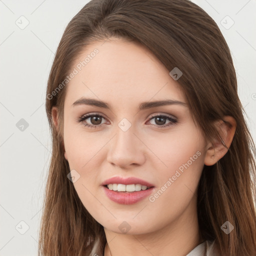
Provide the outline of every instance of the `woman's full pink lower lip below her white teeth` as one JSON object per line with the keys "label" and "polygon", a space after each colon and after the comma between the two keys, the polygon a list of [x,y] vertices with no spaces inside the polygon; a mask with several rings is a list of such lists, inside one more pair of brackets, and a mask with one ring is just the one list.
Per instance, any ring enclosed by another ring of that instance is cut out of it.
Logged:
{"label": "woman's full pink lower lip below her white teeth", "polygon": [[146,190],[134,191],[134,192],[117,192],[110,190],[105,186],[102,186],[107,197],[119,204],[132,204],[143,200],[145,197],[149,196],[154,187],[150,187]]}

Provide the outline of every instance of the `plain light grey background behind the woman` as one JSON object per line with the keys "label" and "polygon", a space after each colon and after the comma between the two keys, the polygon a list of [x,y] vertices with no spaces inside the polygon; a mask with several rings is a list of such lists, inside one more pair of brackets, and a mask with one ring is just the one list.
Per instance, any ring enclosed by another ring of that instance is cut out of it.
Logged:
{"label": "plain light grey background behind the woman", "polygon": [[[0,256],[37,255],[51,152],[46,82],[64,28],[86,2],[0,0]],[[215,20],[229,45],[239,96],[256,141],[256,1],[193,2]],[[28,123],[23,131],[21,118]]]}

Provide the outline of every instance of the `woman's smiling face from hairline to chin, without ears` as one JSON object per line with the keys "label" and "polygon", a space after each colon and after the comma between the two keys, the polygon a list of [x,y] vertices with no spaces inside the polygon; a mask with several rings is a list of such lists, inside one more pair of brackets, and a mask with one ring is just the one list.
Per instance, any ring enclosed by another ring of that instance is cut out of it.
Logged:
{"label": "woman's smiling face from hairline to chin, without ears", "polygon": [[[64,156],[88,212],[105,229],[132,234],[194,213],[205,141],[170,70],[143,46],[120,39],[94,42],[73,68],[78,72],[64,101]],[[172,103],[151,104],[162,100]],[[112,177],[142,181],[104,182]],[[143,182],[150,188],[134,192],[102,185],[132,190]]]}

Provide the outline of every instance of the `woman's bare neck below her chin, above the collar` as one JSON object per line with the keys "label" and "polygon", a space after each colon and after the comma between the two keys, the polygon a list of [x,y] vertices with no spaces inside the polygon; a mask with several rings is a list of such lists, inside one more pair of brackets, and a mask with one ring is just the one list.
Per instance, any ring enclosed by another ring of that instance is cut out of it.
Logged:
{"label": "woman's bare neck below her chin, above the collar", "polygon": [[[104,256],[184,256],[203,239],[200,237],[196,203],[163,228],[144,234],[120,234],[104,228]],[[195,209],[194,209],[195,207]]]}

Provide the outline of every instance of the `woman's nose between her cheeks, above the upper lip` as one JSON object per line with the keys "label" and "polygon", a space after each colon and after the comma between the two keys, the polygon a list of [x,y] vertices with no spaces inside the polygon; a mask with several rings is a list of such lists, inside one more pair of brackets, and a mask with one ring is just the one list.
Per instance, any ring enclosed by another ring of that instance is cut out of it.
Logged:
{"label": "woman's nose between her cheeks, above the upper lip", "polygon": [[132,126],[126,131],[117,127],[115,136],[109,141],[106,159],[110,164],[128,168],[144,163],[146,146],[137,133]]}

